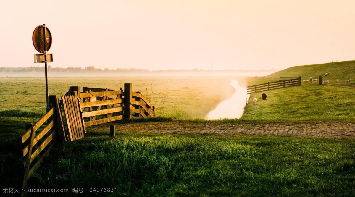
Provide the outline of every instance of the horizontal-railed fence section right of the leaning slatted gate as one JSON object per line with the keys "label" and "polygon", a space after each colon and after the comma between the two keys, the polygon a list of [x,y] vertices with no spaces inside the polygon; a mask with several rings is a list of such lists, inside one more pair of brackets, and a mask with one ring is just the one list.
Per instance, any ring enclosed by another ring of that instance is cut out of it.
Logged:
{"label": "horizontal-railed fence section right of the leaning slatted gate", "polygon": [[132,84],[125,83],[125,91],[108,88],[71,86],[81,100],[85,126],[98,125],[123,118],[155,116],[157,110],[140,92],[132,92]]}

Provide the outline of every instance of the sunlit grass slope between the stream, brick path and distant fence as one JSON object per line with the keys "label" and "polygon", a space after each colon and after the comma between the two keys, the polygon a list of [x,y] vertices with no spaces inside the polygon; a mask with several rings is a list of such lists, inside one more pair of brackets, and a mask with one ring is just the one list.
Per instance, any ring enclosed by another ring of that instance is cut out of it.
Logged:
{"label": "sunlit grass slope between the stream, brick path and distant fence", "polygon": [[[270,80],[247,78],[247,84],[261,84]],[[267,94],[262,100],[261,94]],[[240,121],[299,122],[299,121],[355,121],[354,89],[301,83],[301,86],[250,94]],[[258,104],[253,104],[253,98]]]}

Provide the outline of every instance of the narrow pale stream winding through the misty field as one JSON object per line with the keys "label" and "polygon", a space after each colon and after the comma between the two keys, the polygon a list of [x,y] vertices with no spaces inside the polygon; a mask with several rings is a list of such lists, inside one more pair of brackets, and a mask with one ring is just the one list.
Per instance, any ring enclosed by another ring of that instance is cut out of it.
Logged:
{"label": "narrow pale stream winding through the misty field", "polygon": [[240,118],[243,115],[246,100],[249,99],[247,89],[240,87],[236,80],[231,81],[230,85],[235,88],[235,93],[232,97],[220,103],[204,119]]}

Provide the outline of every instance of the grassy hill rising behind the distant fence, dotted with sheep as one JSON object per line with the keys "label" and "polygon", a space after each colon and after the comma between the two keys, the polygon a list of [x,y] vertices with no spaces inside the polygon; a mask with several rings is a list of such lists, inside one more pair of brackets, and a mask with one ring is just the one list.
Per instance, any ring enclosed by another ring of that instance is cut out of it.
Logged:
{"label": "grassy hill rising behind the distant fence, dotted with sheep", "polygon": [[[327,72],[331,74],[325,76]],[[308,80],[310,77],[319,79],[319,76],[323,76],[323,80],[330,80],[329,82],[336,83],[337,79],[339,79],[340,83],[345,83],[345,80],[353,79],[354,81],[350,81],[350,84],[355,84],[355,60],[293,66],[268,76],[272,76],[273,78],[301,76],[301,80]]]}

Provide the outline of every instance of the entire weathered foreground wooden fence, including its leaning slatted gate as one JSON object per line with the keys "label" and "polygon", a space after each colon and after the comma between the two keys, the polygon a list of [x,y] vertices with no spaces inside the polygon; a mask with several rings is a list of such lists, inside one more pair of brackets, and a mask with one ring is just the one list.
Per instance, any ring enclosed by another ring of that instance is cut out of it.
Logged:
{"label": "entire weathered foreground wooden fence, including its leaning slatted gate", "polygon": [[[125,91],[107,88],[72,86],[64,96],[50,95],[49,111],[35,124],[27,124],[21,137],[24,144],[25,174],[23,186],[26,195],[27,182],[39,168],[43,158],[57,142],[81,139],[86,126],[125,118],[155,116],[155,107],[139,92],[132,92],[132,84],[125,83]],[[64,118],[62,116],[64,114]],[[84,119],[85,118],[85,119]],[[37,131],[37,134],[36,134]],[[39,145],[38,145],[39,144]],[[36,161],[33,164],[33,161]]]}

